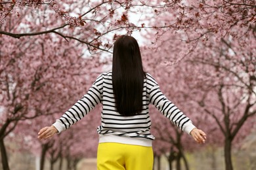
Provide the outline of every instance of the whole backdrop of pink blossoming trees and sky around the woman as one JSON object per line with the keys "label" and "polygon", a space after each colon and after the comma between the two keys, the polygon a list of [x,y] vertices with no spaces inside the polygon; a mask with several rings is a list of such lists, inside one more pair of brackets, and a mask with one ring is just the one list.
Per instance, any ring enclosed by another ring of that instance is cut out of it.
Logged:
{"label": "whole backdrop of pink blossoming trees and sky around the woman", "polygon": [[154,170],[256,169],[255,1],[0,1],[0,169],[96,169],[101,105],[51,126],[112,70],[119,35],[205,144],[150,107]]}

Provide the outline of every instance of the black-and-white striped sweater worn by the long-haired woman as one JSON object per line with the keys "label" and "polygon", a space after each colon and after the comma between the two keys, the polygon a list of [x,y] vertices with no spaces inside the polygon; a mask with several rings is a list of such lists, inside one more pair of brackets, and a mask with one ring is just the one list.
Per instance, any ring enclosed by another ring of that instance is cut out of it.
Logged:
{"label": "black-and-white striped sweater worn by the long-haired woman", "polygon": [[56,120],[53,126],[59,133],[68,129],[98,103],[102,103],[101,125],[97,129],[100,143],[117,142],[151,146],[154,136],[150,133],[151,121],[148,113],[150,103],[182,131],[189,134],[195,127],[190,119],[163,95],[158,83],[149,73],[146,73],[144,78],[142,112],[135,116],[122,116],[115,107],[112,72],[98,76],[89,91]]}

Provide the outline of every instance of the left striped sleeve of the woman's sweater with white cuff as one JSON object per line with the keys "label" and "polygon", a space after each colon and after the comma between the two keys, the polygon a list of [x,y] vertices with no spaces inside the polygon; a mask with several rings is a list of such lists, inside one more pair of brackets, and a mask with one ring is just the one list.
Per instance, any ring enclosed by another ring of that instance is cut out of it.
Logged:
{"label": "left striped sleeve of the woman's sweater with white cuff", "polygon": [[88,92],[81,97],[70,109],[68,109],[56,122],[53,124],[58,130],[58,133],[68,129],[70,126],[81,120],[93,108],[101,102],[101,92],[96,86],[96,82],[100,82],[102,78],[98,76]]}

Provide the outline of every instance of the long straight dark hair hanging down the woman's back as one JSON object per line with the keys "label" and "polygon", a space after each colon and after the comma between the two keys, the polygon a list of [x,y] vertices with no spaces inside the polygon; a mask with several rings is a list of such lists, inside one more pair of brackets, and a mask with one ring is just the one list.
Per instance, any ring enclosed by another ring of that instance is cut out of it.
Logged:
{"label": "long straight dark hair hanging down the woman's back", "polygon": [[133,116],[142,111],[145,72],[139,44],[135,38],[121,35],[114,42],[112,84],[117,112]]}

